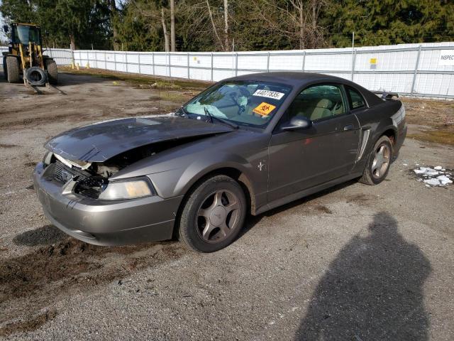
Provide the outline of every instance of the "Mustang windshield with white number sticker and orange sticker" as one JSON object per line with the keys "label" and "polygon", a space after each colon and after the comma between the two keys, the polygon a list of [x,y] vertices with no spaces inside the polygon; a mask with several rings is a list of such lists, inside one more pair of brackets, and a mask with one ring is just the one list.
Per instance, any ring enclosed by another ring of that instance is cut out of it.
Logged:
{"label": "Mustang windshield with white number sticker and orange sticker", "polygon": [[265,128],[284,102],[290,87],[268,82],[223,82],[184,105],[191,116],[212,116],[238,126]]}

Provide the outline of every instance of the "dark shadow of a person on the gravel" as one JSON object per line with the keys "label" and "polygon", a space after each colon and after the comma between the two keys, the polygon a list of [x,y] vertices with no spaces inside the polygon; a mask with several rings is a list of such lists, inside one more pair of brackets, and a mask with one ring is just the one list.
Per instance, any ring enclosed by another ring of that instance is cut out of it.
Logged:
{"label": "dark shadow of a person on the gravel", "polygon": [[431,264],[380,212],[356,235],[314,291],[295,340],[428,340],[423,283]]}

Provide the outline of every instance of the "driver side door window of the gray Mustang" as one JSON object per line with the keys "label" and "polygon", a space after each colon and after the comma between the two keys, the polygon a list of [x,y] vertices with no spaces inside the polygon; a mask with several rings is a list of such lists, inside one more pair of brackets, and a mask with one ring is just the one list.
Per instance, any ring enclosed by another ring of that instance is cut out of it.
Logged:
{"label": "driver side door window of the gray Mustang", "polygon": [[341,88],[337,85],[313,85],[295,97],[289,109],[288,119],[306,117],[311,121],[345,114]]}

